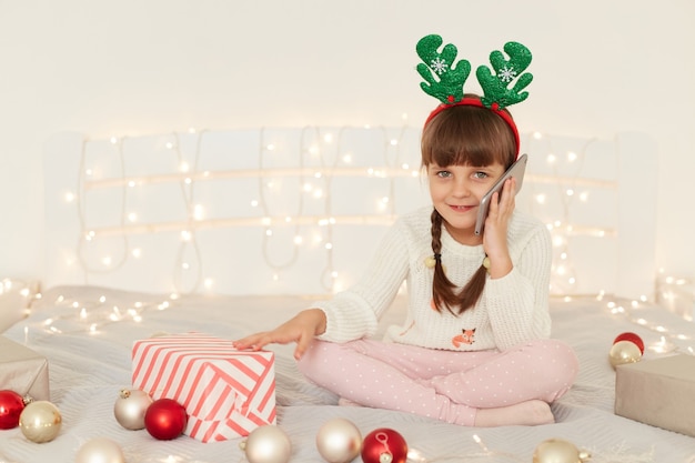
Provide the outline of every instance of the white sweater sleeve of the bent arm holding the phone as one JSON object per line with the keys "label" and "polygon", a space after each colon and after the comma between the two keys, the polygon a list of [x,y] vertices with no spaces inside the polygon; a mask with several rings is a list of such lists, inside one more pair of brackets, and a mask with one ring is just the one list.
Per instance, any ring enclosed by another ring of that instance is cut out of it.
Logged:
{"label": "white sweater sleeve of the bent arm holding the phone", "polygon": [[485,303],[495,343],[506,350],[551,335],[548,312],[552,242],[544,227],[515,231],[510,240],[514,262],[501,279],[488,279]]}

